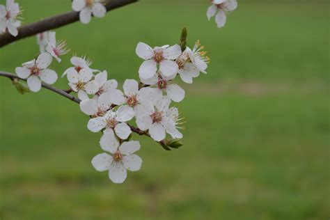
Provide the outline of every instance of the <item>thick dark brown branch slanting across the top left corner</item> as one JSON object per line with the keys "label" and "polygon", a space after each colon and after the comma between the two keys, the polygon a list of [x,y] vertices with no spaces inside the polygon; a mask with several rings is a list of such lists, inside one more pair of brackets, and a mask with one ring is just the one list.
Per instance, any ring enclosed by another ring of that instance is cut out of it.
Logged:
{"label": "thick dark brown branch slanting across the top left corner", "polygon": [[[139,0],[105,0],[104,6],[107,8],[107,11],[126,6],[129,3],[134,3]],[[18,35],[16,37],[11,36],[10,33],[3,33],[0,35],[0,47],[10,44],[23,38],[28,38],[35,36],[38,33],[44,31],[49,31],[52,29],[57,29],[61,26],[71,24],[73,22],[79,21],[79,12],[71,11],[64,13],[62,15],[56,15],[54,17],[49,17],[47,19],[42,19],[39,22],[33,24],[28,24],[22,26],[18,29]]]}

